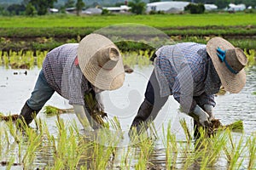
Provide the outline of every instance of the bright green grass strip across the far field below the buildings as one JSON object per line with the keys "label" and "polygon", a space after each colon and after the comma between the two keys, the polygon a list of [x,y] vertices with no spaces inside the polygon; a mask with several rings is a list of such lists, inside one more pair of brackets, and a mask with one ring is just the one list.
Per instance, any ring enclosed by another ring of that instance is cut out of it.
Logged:
{"label": "bright green grass strip across the far field below the buildings", "polygon": [[74,16],[46,15],[37,17],[0,17],[0,27],[104,27],[137,23],[154,27],[172,26],[247,26],[256,25],[256,14],[157,14]]}

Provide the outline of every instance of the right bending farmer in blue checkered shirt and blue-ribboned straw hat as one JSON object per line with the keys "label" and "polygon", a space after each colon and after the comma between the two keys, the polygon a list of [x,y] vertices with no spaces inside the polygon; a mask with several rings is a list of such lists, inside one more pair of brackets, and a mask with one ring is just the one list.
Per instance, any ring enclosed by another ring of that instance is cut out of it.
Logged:
{"label": "right bending farmer in blue checkered shirt and blue-ribboned straw hat", "polygon": [[169,95],[173,95],[183,112],[197,117],[197,122],[206,127],[214,119],[213,94],[221,86],[236,94],[246,83],[243,69],[247,65],[246,55],[221,37],[213,37],[207,45],[195,42],[166,45],[155,55],[154,71],[130,134],[133,127],[137,133],[145,130],[146,122],[154,121]]}

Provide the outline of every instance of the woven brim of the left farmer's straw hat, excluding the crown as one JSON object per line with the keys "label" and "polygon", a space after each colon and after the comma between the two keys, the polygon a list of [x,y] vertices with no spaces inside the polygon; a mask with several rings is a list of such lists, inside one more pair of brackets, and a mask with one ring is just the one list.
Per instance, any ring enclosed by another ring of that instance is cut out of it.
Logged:
{"label": "woven brim of the left farmer's straw hat, excluding the crown", "polygon": [[120,88],[125,81],[124,65],[121,57],[112,70],[104,70],[97,63],[94,55],[104,47],[115,45],[107,37],[90,34],[79,42],[79,66],[84,77],[96,88],[114,90]]}

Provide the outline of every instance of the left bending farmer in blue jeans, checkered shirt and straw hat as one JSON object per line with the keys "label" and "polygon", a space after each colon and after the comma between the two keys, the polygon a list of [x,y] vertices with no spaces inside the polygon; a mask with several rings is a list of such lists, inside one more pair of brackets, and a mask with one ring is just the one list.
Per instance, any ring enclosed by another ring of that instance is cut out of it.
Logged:
{"label": "left bending farmer in blue jeans, checkered shirt and straw hat", "polygon": [[19,119],[26,125],[31,123],[57,92],[69,100],[79,121],[84,124],[84,119],[91,117],[88,115],[90,105],[84,101],[84,94],[91,94],[97,101],[96,108],[102,111],[100,92],[120,88],[124,80],[124,65],[119,48],[107,37],[90,34],[79,43],[61,45],[46,55],[38,81]]}

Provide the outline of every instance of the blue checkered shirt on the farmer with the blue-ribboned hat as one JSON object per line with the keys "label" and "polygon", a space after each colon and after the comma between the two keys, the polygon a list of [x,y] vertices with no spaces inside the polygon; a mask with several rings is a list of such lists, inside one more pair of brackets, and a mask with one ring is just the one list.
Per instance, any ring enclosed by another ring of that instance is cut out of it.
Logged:
{"label": "blue checkered shirt on the farmer with the blue-ribboned hat", "polygon": [[154,68],[161,97],[173,95],[186,113],[193,111],[196,104],[215,106],[213,94],[205,93],[209,60],[205,44],[166,45],[159,48],[156,55]]}

